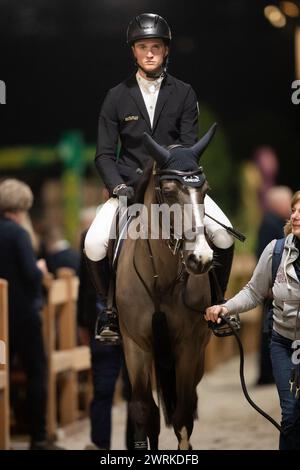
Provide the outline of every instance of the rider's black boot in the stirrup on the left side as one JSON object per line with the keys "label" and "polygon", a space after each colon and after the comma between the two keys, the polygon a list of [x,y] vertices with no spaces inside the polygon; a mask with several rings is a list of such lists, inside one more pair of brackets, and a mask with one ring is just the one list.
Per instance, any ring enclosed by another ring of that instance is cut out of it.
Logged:
{"label": "rider's black boot in the stirrup on the left side", "polygon": [[[87,256],[85,258],[94,288],[100,299],[106,304],[110,282],[108,259],[91,261]],[[99,314],[95,327],[95,338],[107,344],[118,344],[120,342],[116,309],[106,307],[105,311]]]}

